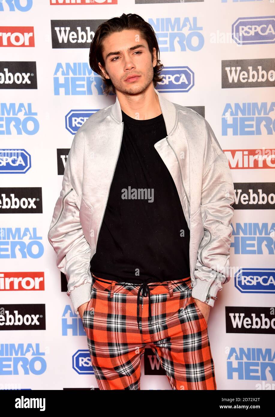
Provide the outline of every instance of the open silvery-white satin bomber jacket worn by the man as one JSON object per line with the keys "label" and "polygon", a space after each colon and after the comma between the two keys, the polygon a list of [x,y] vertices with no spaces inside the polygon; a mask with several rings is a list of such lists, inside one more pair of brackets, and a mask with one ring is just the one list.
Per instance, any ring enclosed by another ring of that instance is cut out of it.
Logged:
{"label": "open silvery-white satin bomber jacket worn by the man", "polygon": [[[154,90],[167,130],[167,136],[154,147],[175,181],[190,229],[192,296],[213,307],[222,284],[230,280],[234,185],[228,160],[203,116]],[[55,204],[48,240],[57,255],[57,268],[67,276],[67,295],[76,314],[91,298],[90,260],[96,251],[122,133],[116,98],[114,104],[92,114],[75,134]]]}

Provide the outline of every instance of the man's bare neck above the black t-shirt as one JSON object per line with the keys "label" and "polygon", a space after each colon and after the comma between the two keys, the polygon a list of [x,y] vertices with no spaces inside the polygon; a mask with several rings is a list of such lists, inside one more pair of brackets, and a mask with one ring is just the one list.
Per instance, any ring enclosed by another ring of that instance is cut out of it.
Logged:
{"label": "man's bare neck above the black t-shirt", "polygon": [[117,91],[117,98],[121,110],[133,119],[148,120],[162,113],[153,83],[139,94],[125,94]]}

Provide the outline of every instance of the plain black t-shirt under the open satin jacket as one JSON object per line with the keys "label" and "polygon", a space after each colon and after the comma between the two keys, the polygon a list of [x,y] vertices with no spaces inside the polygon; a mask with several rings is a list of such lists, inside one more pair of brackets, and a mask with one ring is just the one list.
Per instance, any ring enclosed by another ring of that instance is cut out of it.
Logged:
{"label": "plain black t-shirt under the open satin jacket", "polygon": [[167,135],[163,115],[136,120],[122,111],[122,121],[91,272],[132,284],[186,278],[190,231],[173,178],[154,148]]}

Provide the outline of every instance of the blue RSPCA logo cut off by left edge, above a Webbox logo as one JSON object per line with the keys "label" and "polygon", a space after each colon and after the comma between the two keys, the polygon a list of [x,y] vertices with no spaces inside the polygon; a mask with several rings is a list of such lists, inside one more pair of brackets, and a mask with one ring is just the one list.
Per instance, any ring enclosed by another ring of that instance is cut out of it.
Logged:
{"label": "blue RSPCA logo cut off by left edge, above a Webbox logo", "polygon": [[25,149],[0,149],[0,174],[25,174],[31,167]]}

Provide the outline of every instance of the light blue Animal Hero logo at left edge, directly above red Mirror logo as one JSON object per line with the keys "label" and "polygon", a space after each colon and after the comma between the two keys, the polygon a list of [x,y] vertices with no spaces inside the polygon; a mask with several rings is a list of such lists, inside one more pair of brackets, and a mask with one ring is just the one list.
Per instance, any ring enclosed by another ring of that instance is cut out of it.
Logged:
{"label": "light blue Animal Hero logo at left edge, directly above red Mirror logo", "polygon": [[44,254],[42,236],[37,228],[1,227],[0,259],[38,259]]}

